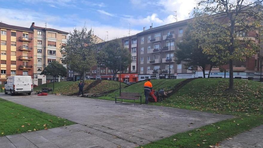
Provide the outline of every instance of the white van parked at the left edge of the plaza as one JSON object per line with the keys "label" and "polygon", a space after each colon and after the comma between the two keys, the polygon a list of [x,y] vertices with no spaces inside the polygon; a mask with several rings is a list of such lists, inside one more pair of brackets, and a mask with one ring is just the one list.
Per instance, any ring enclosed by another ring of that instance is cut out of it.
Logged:
{"label": "white van parked at the left edge of the plaza", "polygon": [[27,93],[28,95],[33,92],[33,84],[31,76],[9,76],[4,84],[4,94],[10,93],[11,96],[14,94]]}

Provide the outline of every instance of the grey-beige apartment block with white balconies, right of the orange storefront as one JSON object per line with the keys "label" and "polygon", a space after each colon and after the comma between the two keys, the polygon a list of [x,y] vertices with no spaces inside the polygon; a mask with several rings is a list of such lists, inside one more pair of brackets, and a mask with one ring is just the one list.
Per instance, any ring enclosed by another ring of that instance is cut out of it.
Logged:
{"label": "grey-beige apartment block with white balconies, right of the orange storefront", "polygon": [[[139,80],[148,78],[192,78],[193,71],[185,69],[182,63],[176,63],[176,43],[184,36],[184,30],[190,19],[156,28],[143,30],[137,34]],[[170,70],[169,70],[170,69]]]}

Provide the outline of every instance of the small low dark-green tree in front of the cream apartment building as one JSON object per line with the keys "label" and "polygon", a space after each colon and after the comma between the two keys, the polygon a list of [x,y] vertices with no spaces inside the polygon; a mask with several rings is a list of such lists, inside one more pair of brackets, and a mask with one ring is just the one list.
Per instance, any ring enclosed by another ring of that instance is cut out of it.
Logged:
{"label": "small low dark-green tree in front of the cream apartment building", "polygon": [[67,76],[67,69],[60,64],[58,61],[52,61],[51,63],[48,64],[48,66],[46,66],[43,71],[40,73],[48,75],[48,76],[53,76],[55,77],[66,77]]}

